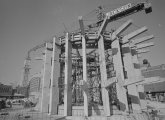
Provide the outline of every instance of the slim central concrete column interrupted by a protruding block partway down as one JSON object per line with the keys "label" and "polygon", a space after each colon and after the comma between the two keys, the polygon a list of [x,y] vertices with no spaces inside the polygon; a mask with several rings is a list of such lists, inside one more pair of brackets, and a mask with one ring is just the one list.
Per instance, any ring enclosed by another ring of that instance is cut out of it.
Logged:
{"label": "slim central concrete column interrupted by a protruding block partway down", "polygon": [[[82,36],[82,56],[83,56],[83,80],[87,83],[87,57],[86,57],[86,40]],[[84,91],[84,116],[88,116],[88,93]]]}

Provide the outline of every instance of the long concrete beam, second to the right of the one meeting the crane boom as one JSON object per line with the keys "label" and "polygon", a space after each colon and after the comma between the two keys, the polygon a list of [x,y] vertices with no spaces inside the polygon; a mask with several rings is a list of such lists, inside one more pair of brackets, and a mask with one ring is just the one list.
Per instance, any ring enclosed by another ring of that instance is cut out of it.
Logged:
{"label": "long concrete beam, second to the right of the one meeting the crane boom", "polygon": [[136,37],[137,35],[139,35],[139,34],[141,34],[143,32],[145,32],[146,30],[147,30],[147,27],[144,26],[144,27],[142,27],[142,28],[140,28],[140,29],[138,29],[138,30],[136,30],[136,31],[126,35],[126,36],[124,36],[121,42],[123,44],[125,44],[125,43],[129,42],[130,39]]}

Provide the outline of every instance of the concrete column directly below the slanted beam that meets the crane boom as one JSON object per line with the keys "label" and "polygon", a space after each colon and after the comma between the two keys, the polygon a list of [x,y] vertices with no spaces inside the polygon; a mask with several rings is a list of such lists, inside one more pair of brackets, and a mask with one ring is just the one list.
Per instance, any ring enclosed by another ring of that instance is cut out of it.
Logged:
{"label": "concrete column directly below the slanted beam that meets the crane boom", "polygon": [[110,103],[109,103],[109,94],[105,88],[107,81],[107,70],[106,70],[106,61],[105,61],[105,49],[104,49],[104,40],[101,36],[98,42],[99,54],[100,54],[100,72],[101,72],[101,87],[102,87],[102,99],[104,106],[104,113],[106,116],[110,116]]}

